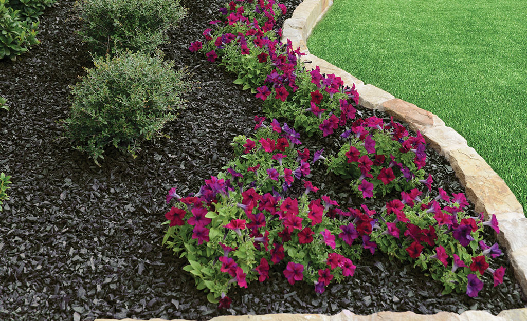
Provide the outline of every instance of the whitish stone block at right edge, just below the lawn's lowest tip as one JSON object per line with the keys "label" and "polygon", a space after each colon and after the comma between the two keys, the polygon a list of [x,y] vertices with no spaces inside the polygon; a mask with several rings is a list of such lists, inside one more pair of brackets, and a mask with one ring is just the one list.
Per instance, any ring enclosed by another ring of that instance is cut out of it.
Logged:
{"label": "whitish stone block at right edge, just below the lawn's lowest tip", "polygon": [[527,218],[498,220],[498,227],[500,234],[497,237],[508,253],[527,247]]}

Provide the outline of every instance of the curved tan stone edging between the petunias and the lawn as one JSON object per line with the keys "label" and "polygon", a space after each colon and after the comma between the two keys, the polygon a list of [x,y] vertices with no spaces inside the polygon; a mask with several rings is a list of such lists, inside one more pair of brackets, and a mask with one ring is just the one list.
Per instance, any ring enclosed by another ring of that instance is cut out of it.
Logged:
{"label": "curved tan stone edging between the petunias and the lawn", "polygon": [[427,143],[445,156],[454,169],[461,184],[465,186],[467,198],[475,205],[476,212],[485,218],[496,214],[499,221],[499,242],[507,249],[514,274],[523,292],[527,294],[527,218],[521,204],[485,160],[467,145],[466,139],[451,127],[445,126],[441,118],[414,104],[396,99],[392,94],[364,82],[331,65],[324,59],[309,53],[307,37],[320,18],[333,4],[330,0],[304,0],[295,9],[292,17],[284,22],[282,42],[289,38],[293,47],[306,53],[302,57],[306,67],[320,67],[321,73],[341,77],[345,85],[355,84],[359,93],[359,104],[370,109],[385,111],[408,123],[419,131]]}

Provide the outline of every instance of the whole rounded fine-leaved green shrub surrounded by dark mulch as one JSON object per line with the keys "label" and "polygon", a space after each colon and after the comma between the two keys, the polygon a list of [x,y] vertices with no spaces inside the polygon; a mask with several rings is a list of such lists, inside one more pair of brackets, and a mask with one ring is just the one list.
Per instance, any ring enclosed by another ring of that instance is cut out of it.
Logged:
{"label": "whole rounded fine-leaved green shrub surrounded by dark mulch", "polygon": [[184,103],[180,96],[192,83],[183,79],[184,71],[173,71],[172,62],[142,53],[125,51],[94,64],[72,87],[64,135],[95,163],[109,145],[135,157],[141,141],[161,136],[163,125],[176,117]]}

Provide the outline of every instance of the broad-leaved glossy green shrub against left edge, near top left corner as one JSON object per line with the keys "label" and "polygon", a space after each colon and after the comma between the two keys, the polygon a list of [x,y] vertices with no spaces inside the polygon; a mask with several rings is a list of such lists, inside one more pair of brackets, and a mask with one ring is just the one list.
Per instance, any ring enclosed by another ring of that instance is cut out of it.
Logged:
{"label": "broad-leaved glossy green shrub against left edge, near top left corner", "polygon": [[36,38],[38,22],[21,21],[17,10],[6,7],[0,0],[0,59],[16,60],[16,56],[28,51],[28,47],[39,44]]}

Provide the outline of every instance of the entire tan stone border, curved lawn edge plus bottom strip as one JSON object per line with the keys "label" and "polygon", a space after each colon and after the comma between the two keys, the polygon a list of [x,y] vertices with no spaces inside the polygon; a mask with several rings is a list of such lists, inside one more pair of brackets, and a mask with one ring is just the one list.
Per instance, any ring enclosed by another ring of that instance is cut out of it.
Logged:
{"label": "entire tan stone border, curved lawn edge plus bottom strip", "polygon": [[[474,204],[476,212],[483,212],[485,218],[495,214],[500,234],[500,245],[505,247],[514,275],[523,292],[527,295],[527,218],[509,186],[485,160],[467,145],[466,139],[451,127],[445,126],[441,118],[417,107],[414,104],[395,98],[392,94],[372,84],[364,84],[324,59],[311,55],[307,48],[307,38],[317,22],[333,4],[330,0],[304,0],[296,7],[290,19],[284,22],[282,42],[290,39],[293,47],[300,47],[305,53],[302,61],[306,68],[320,67],[320,73],[335,74],[342,78],[344,85],[355,84],[359,93],[359,105],[369,109],[384,111],[399,121],[405,122],[413,131],[419,131],[427,143],[450,162],[456,176],[466,189],[467,198]],[[462,314],[440,312],[433,315],[420,315],[413,312],[378,312],[367,316],[356,315],[348,310],[328,316],[321,314],[266,314],[243,316],[220,316],[210,321],[527,321],[527,308],[503,310],[494,316],[486,311],[465,311]],[[117,321],[96,319],[95,321]],[[123,319],[121,321],[135,321]],[[151,319],[150,321],[165,321]],[[172,321],[186,321],[174,319]]]}

